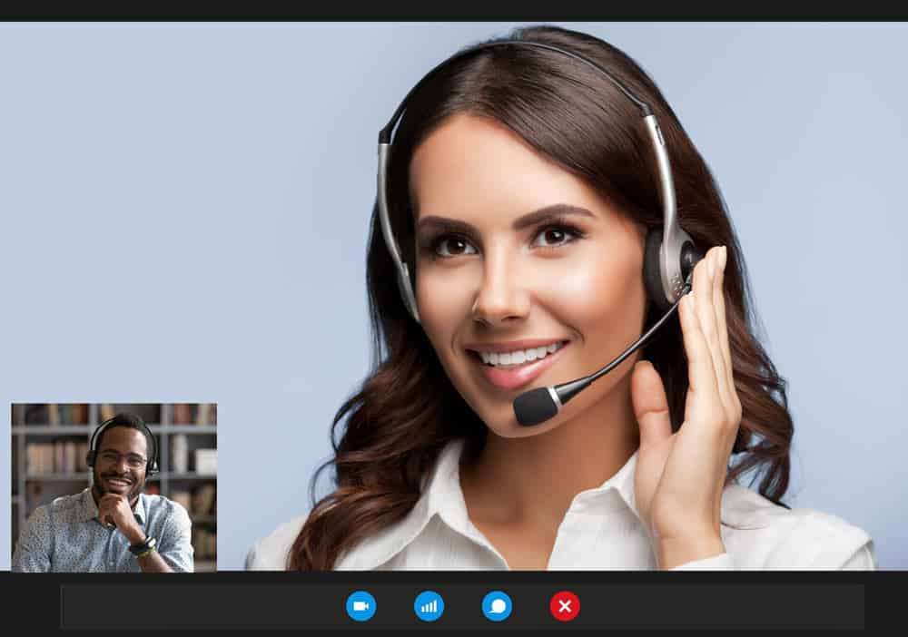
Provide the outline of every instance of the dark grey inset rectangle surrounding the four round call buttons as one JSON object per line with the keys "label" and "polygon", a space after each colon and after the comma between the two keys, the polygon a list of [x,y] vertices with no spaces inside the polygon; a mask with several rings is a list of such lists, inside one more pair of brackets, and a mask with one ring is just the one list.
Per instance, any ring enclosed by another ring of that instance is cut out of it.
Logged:
{"label": "dark grey inset rectangle surrounding the four round call buttons", "polygon": [[[552,630],[566,626],[549,611],[562,590],[580,601],[573,630],[681,629],[699,631],[864,630],[864,585],[860,583],[514,583],[501,587],[513,601],[503,622],[490,622],[480,604],[491,589],[476,584],[426,582],[421,586],[380,583],[368,587],[375,597],[369,622],[347,616],[347,596],[356,585],[316,583],[74,583],[61,587],[63,630],[160,632],[172,629],[349,631],[465,631],[494,625],[506,632]],[[425,589],[439,593],[445,611],[436,622],[422,622],[413,611]],[[136,599],[153,600],[159,613],[142,613]],[[104,601],[104,612],[97,604]],[[766,612],[756,612],[756,608]]]}

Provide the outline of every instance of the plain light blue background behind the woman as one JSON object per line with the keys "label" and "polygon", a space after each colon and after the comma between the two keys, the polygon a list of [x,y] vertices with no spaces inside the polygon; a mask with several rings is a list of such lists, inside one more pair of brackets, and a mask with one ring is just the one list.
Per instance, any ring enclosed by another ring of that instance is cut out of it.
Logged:
{"label": "plain light blue background behind the woman", "polygon": [[[242,568],[308,510],[368,370],[378,131],[510,26],[0,25],[0,404],[217,402],[218,562]],[[908,25],[567,26],[654,76],[723,189],[790,382],[787,501],[908,567]]]}

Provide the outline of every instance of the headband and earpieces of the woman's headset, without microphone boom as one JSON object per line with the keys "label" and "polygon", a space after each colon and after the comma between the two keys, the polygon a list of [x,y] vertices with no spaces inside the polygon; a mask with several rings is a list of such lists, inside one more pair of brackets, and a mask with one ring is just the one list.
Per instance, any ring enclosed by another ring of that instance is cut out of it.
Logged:
{"label": "headband and earpieces of the woman's headset, without microphone boom", "polygon": [[702,253],[696,250],[694,240],[691,239],[684,230],[681,229],[677,222],[677,213],[675,205],[675,184],[672,181],[671,165],[668,162],[668,153],[666,152],[666,142],[656,122],[656,115],[653,114],[649,105],[632,93],[623,83],[619,82],[611,73],[608,73],[599,64],[588,60],[582,55],[574,54],[564,49],[542,44],[538,42],[529,42],[523,40],[503,40],[486,44],[478,44],[453,54],[444,62],[438,64],[429,73],[427,73],[419,83],[410,89],[403,102],[398,106],[397,111],[391,116],[390,122],[379,132],[379,192],[378,192],[378,210],[381,222],[381,230],[385,238],[385,244],[394,260],[398,270],[398,288],[400,296],[403,298],[404,305],[410,311],[413,319],[419,323],[419,310],[416,307],[416,296],[413,293],[412,283],[410,281],[410,270],[407,264],[400,258],[400,250],[397,241],[394,240],[394,234],[391,231],[390,212],[388,205],[388,161],[391,147],[391,133],[400,121],[404,113],[410,96],[416,92],[419,87],[425,83],[429,77],[439,71],[440,68],[459,60],[467,55],[475,54],[496,46],[526,46],[538,49],[548,49],[558,54],[567,55],[587,66],[592,67],[598,73],[601,73],[609,82],[613,83],[616,88],[627,97],[640,111],[643,121],[646,124],[646,130],[649,132],[650,142],[656,152],[656,162],[659,170],[659,194],[662,200],[664,211],[664,220],[662,228],[654,228],[646,234],[646,251],[643,264],[643,276],[646,282],[646,291],[649,298],[656,303],[656,307],[662,311],[671,308],[675,302],[681,298],[688,277],[694,270],[696,262],[703,258]]}

